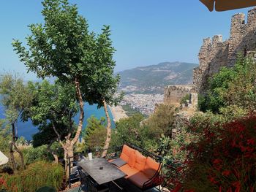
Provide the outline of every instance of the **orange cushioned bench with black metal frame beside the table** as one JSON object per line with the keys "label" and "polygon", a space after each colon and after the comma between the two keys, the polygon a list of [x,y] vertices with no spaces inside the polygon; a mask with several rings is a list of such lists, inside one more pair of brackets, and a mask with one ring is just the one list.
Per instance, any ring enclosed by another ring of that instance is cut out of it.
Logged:
{"label": "orange cushioned bench with black metal frame beside the table", "polygon": [[145,157],[138,150],[128,145],[123,145],[120,158],[126,161],[127,164],[118,169],[127,174],[125,178],[138,188],[146,190],[160,185],[161,163],[154,161],[149,156]]}

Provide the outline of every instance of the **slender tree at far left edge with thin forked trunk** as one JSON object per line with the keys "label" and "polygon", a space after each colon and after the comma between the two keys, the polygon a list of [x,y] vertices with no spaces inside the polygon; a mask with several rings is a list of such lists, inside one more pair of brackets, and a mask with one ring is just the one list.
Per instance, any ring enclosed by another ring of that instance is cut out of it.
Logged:
{"label": "slender tree at far left edge with thin forked trunk", "polygon": [[[23,83],[21,78],[6,74],[1,76],[0,80],[0,94],[1,103],[5,108],[6,122],[12,128],[12,142],[10,143],[10,156],[12,161],[12,168],[15,170],[14,150],[16,150],[21,159],[21,166],[25,169],[23,153],[16,146],[18,139],[15,132],[15,123],[18,122],[20,114],[29,109],[33,99],[33,92],[31,90],[31,82]],[[13,150],[14,148],[14,150]]]}

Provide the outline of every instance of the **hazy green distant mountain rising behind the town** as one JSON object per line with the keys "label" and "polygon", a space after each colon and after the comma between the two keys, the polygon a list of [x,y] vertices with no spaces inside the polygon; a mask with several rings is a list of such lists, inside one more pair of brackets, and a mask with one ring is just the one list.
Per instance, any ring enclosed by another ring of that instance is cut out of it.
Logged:
{"label": "hazy green distant mountain rising behind the town", "polygon": [[192,84],[193,68],[198,64],[165,62],[118,72],[120,89],[125,92],[163,93],[167,85]]}

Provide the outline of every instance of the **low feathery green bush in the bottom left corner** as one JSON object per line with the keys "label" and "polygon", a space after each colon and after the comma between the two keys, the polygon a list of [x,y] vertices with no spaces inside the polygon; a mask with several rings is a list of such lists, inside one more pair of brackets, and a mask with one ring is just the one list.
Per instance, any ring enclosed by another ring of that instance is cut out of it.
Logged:
{"label": "low feathery green bush in the bottom left corner", "polygon": [[51,186],[59,190],[63,178],[63,167],[46,161],[38,161],[23,171],[4,176],[6,189],[10,192],[34,192],[43,186]]}

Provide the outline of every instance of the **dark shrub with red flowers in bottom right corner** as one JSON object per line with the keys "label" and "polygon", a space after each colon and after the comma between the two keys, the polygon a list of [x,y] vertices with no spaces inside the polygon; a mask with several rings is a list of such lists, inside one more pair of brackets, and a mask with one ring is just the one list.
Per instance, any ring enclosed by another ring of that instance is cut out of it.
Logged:
{"label": "dark shrub with red flowers in bottom right corner", "polygon": [[187,146],[182,184],[176,189],[256,191],[256,116],[215,127],[206,122],[200,130],[197,141]]}

